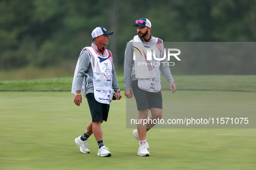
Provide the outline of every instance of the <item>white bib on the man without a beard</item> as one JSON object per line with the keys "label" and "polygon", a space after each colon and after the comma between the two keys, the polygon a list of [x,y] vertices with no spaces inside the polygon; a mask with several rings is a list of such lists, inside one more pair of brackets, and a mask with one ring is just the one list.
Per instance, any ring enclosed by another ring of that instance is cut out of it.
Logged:
{"label": "white bib on the man without a beard", "polygon": [[100,57],[93,47],[87,47],[87,49],[94,72],[94,98],[99,103],[110,104],[114,91],[112,89],[112,54],[110,50],[105,50],[104,57]]}

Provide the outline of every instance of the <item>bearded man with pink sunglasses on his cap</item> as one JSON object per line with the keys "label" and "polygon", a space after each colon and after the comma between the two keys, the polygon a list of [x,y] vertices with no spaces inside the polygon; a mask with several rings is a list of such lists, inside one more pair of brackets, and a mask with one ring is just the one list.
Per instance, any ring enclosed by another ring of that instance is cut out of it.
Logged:
{"label": "bearded man with pink sunglasses on his cap", "polygon": [[[153,120],[162,118],[162,94],[160,68],[169,82],[172,93],[176,91],[174,80],[170,72],[167,57],[164,57],[163,41],[150,34],[151,22],[141,18],[133,25],[137,28],[137,35],[129,41],[124,59],[124,86],[126,98],[136,99],[139,111],[138,120],[146,120],[149,109],[151,116],[146,125],[137,124],[133,136],[139,141],[139,156],[149,156],[149,144],[146,132],[154,124]],[[164,59],[165,58],[165,59]],[[165,64],[164,64],[165,63]],[[132,90],[131,90],[132,89]]]}

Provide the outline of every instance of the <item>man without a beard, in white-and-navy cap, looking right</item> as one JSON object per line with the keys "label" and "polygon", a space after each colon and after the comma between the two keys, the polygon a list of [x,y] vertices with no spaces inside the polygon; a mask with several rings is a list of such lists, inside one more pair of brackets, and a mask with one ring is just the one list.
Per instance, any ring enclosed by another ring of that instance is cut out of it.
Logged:
{"label": "man without a beard, in white-and-navy cap, looking right", "polygon": [[[109,157],[111,152],[104,146],[100,124],[107,121],[112,98],[120,100],[122,97],[112,54],[110,50],[106,49],[110,39],[108,35],[112,34],[113,32],[107,31],[104,27],[97,27],[92,31],[94,42],[91,47],[84,47],[80,53],[71,91],[75,94],[74,102],[77,106],[82,103],[82,95],[87,98],[92,117],[86,131],[75,139],[75,143],[82,153],[90,153],[87,139],[94,133],[99,146],[97,155],[101,157]],[[83,94],[81,93],[82,89]]]}

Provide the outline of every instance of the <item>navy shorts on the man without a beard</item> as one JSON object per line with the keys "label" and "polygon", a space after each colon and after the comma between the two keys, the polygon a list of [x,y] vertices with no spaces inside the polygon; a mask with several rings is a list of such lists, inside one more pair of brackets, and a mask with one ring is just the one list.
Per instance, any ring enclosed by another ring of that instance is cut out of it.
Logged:
{"label": "navy shorts on the man without a beard", "polygon": [[94,93],[86,94],[86,98],[91,111],[92,121],[104,120],[107,122],[110,105],[97,102],[94,98]]}

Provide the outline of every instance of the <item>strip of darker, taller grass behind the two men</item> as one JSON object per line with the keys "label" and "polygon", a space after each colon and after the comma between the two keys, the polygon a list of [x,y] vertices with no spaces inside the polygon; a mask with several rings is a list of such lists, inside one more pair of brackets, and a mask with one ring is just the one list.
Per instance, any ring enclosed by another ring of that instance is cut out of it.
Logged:
{"label": "strip of darker, taller grass behind the two men", "polygon": [[[118,76],[119,87],[124,90],[123,77]],[[0,91],[71,91],[72,77],[0,81]],[[256,76],[174,76],[178,90],[217,90],[256,92]],[[162,77],[162,89],[169,89]]]}

